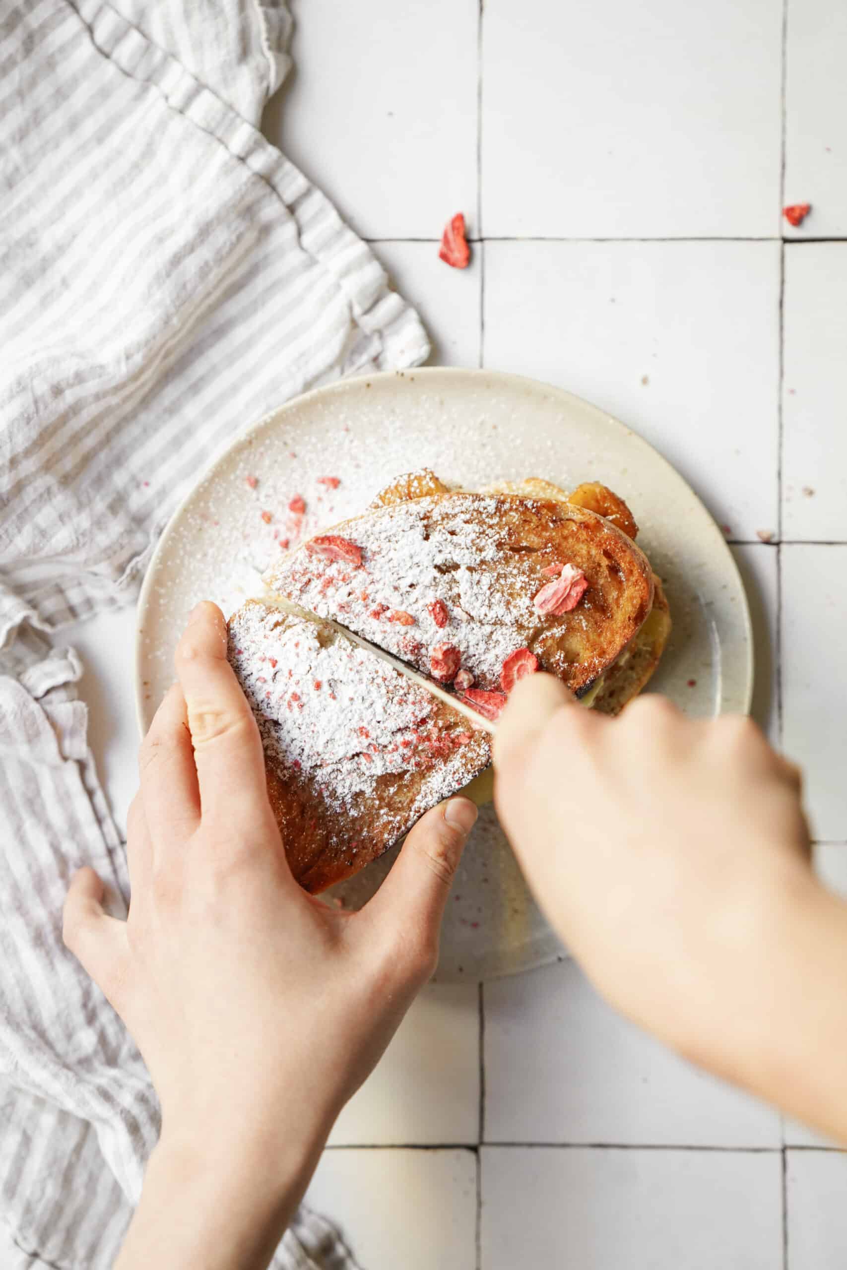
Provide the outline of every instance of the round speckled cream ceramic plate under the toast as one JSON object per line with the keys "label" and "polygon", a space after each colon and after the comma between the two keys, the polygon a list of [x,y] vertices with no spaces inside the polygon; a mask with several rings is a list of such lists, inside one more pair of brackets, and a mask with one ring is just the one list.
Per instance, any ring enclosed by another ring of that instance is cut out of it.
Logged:
{"label": "round speckled cream ceramic plate under the toast", "polygon": [[[682,476],[617,419],[569,392],[514,375],[434,368],[344,380],[297,398],[201,479],[163,535],[141,594],[142,729],[173,679],[173,650],[192,606],[211,598],[231,612],[260,593],[260,574],[281,544],[293,545],[292,498],[306,503],[302,533],[310,535],[424,466],[466,489],[524,476],[566,489],[584,480],[611,485],[632,508],[639,545],[665,580],[673,615],[651,690],[692,715],[748,710],[744,589],[721,532]],[[364,903],[394,855],[337,886],[344,903]],[[494,809],[484,808],[450,900],[438,978],[485,979],[563,955]]]}

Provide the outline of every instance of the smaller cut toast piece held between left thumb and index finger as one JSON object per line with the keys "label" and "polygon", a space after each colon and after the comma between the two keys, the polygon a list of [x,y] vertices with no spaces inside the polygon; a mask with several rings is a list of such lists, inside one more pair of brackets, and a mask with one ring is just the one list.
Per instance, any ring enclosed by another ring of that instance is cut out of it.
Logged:
{"label": "smaller cut toast piece held between left thumb and index finger", "polygon": [[230,617],[229,658],[291,871],[311,893],[376,860],[491,761],[486,733],[325,622],[249,599]]}

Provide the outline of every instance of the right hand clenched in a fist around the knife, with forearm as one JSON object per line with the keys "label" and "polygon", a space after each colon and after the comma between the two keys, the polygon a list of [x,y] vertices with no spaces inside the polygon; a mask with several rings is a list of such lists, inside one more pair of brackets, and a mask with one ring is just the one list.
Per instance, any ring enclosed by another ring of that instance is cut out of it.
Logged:
{"label": "right hand clenched in a fist around the knife, with forearm", "polygon": [[[659,696],[611,720],[535,674],[500,719],[495,772],[536,899],[601,993],[712,1071],[846,1132],[847,1109],[834,1124],[785,1090],[844,998],[847,906],[815,881],[799,771],[756,724],[691,720]],[[847,1019],[836,1041],[843,1053]]]}

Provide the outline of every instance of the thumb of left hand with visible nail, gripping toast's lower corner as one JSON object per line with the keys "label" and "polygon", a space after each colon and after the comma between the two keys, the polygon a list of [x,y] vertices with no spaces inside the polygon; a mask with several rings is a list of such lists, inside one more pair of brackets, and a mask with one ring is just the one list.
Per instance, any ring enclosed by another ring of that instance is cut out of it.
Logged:
{"label": "thumb of left hand with visible nail, gripping toast's lower corner", "polygon": [[380,925],[414,931],[437,949],[450,888],[476,817],[469,798],[451,798],[422,815],[367,904],[368,916]]}

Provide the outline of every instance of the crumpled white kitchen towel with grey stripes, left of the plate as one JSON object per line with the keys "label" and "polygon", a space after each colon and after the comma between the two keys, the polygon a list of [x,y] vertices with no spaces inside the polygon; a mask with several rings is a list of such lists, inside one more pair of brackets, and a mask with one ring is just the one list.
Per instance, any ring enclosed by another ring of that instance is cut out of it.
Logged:
{"label": "crumpled white kitchen towel with grey stripes, left of the plate", "polygon": [[[105,1270],[159,1113],[61,942],[126,857],[63,624],[130,603],[232,437],[309,386],[423,361],[368,248],[259,133],[281,0],[0,0],[0,1265]],[[367,138],[350,137],[350,145]],[[276,1266],[349,1267],[301,1210]]]}

